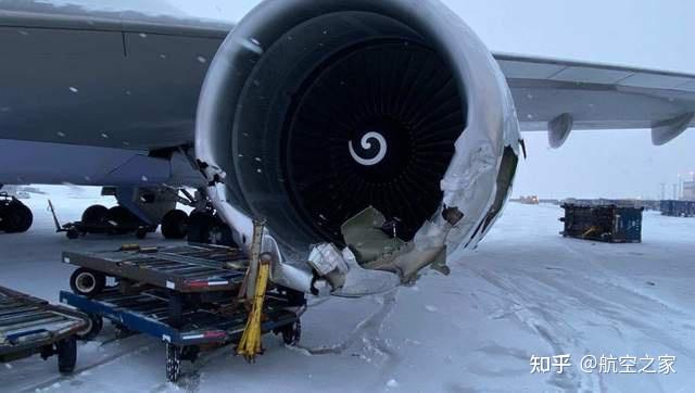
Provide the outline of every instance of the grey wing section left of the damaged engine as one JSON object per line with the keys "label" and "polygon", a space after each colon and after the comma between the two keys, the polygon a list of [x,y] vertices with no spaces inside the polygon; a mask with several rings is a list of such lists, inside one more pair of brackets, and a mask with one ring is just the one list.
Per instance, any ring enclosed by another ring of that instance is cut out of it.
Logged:
{"label": "grey wing section left of the damaged engine", "polygon": [[200,88],[231,24],[11,5],[0,7],[0,140],[192,143]]}

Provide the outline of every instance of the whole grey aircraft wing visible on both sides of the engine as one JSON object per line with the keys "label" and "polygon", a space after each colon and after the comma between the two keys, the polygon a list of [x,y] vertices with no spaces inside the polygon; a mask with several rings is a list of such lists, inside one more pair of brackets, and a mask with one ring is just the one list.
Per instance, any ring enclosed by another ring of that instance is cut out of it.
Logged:
{"label": "whole grey aircraft wing visible on both sides of the engine", "polygon": [[[37,5],[38,4],[38,5]],[[192,143],[198,93],[231,24],[0,10],[0,139],[153,150]],[[523,130],[652,128],[656,144],[695,125],[695,75],[496,53]]]}

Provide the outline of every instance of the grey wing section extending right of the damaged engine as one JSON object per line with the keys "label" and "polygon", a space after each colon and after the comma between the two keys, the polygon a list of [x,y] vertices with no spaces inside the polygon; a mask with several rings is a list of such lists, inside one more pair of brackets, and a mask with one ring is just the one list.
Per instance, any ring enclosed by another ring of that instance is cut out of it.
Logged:
{"label": "grey wing section extending right of the damaged engine", "polygon": [[522,130],[548,130],[559,147],[571,129],[650,128],[664,144],[695,126],[695,75],[494,54]]}

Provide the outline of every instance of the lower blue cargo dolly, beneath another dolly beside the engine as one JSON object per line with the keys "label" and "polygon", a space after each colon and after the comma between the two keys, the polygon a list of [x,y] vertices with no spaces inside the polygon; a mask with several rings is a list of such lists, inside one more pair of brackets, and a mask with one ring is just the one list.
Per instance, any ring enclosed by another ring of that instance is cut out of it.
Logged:
{"label": "lower blue cargo dolly, beneath another dolly beside the engine", "polygon": [[[166,345],[166,377],[176,381],[181,360],[194,362],[202,347],[237,343],[243,333],[248,313],[236,296],[213,303],[186,303],[180,317],[172,318],[170,299],[166,290],[151,289],[138,294],[124,294],[109,289],[94,297],[63,291],[61,303],[89,315],[90,337],[103,326],[103,318],[121,331],[144,333]],[[279,293],[268,293],[264,304],[264,333],[281,334],[287,344],[296,344],[301,334],[299,315]],[[176,324],[173,325],[173,319]]]}

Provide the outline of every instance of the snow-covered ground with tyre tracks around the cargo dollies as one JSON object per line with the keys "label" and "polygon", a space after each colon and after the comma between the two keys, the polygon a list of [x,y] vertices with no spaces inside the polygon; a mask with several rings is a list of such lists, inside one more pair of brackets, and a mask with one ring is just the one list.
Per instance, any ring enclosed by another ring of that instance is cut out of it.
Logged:
{"label": "snow-covered ground with tyre tracks around the cargo dollies", "polygon": [[[104,201],[93,191],[50,191],[64,221]],[[2,286],[55,302],[72,271],[61,251],[132,242],[68,241],[53,232],[46,196],[25,202],[33,229],[0,234]],[[166,383],[159,342],[112,341],[106,328],[100,342],[80,345],[73,377],[34,357],[0,366],[0,391],[693,391],[695,219],[645,213],[642,244],[603,244],[558,236],[560,215],[557,206],[509,204],[448,277],[428,272],[383,296],[312,300],[302,347],[266,337],[255,365],[220,348],[186,365],[178,384]],[[166,243],[159,234],[148,242]],[[564,373],[530,372],[533,355],[563,354],[572,364]],[[585,355],[672,355],[675,373],[586,373]]]}

